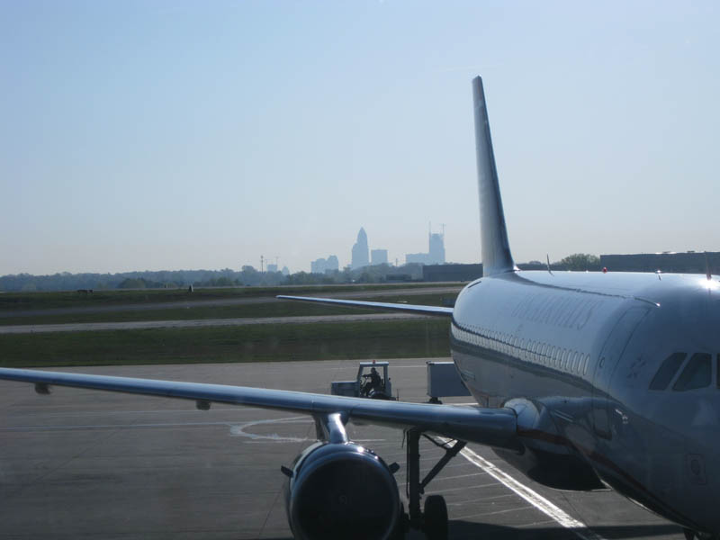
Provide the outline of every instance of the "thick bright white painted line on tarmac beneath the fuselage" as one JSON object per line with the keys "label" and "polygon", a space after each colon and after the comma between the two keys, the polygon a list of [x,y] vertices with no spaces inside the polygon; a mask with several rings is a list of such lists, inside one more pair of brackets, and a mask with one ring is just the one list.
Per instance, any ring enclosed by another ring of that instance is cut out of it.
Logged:
{"label": "thick bright white painted line on tarmac beneath the fuselage", "polygon": [[[449,442],[449,439],[447,440]],[[582,540],[605,540],[598,533],[592,531],[587,525],[579,521],[578,519],[572,518],[570,514],[565,512],[563,509],[557,507],[550,500],[545,499],[542,495],[536,491],[531,490],[525,484],[518,482],[508,473],[505,473],[500,468],[491,464],[488,460],[483,458],[481,455],[477,455],[470,448],[463,448],[460,454],[473,465],[480,467],[485,473],[490,474],[495,480],[509,488],[511,491],[515,491],[524,500],[527,500],[536,509],[543,512],[546,516],[553,518],[553,520],[565,528],[569,528],[575,533],[576,536],[582,538]]]}

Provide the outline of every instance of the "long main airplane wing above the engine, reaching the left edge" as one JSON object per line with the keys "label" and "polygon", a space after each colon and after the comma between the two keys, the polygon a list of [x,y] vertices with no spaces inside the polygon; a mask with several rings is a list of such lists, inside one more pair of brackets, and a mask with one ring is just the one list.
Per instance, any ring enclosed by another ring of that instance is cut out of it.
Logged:
{"label": "long main airplane wing above the engine, reaching the left edge", "polygon": [[34,383],[36,392],[41,394],[49,393],[49,387],[57,385],[194,400],[198,401],[198,408],[207,408],[210,402],[217,402],[306,413],[316,418],[340,413],[349,420],[395,428],[419,428],[487,446],[520,448],[516,414],[510,409],[381,401],[224,384],[179,383],[30,369],[0,368],[0,379]]}

